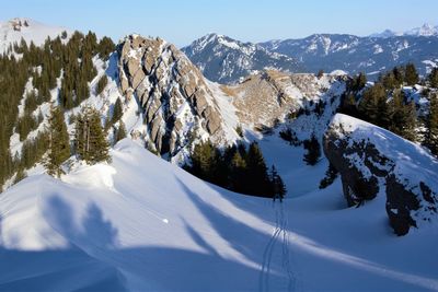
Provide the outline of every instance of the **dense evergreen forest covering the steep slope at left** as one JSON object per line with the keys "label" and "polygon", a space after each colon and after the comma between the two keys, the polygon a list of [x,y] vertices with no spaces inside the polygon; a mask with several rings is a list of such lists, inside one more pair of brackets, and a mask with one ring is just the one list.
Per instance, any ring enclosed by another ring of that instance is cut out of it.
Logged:
{"label": "dense evergreen forest covering the steep slope at left", "polygon": [[[64,113],[88,98],[88,82],[96,74],[92,57],[99,55],[108,59],[115,48],[111,38],[97,42],[91,32],[87,35],[74,32],[68,42],[66,38],[67,33],[54,39],[48,37],[41,47],[22,39],[0,55],[0,185],[12,174],[23,173],[24,168],[41,161],[46,153],[49,130],[39,131],[33,139],[27,135],[42,122],[43,114],[35,109],[50,101],[50,91],[57,86],[57,80],[61,78],[58,98]],[[20,58],[15,58],[16,54]],[[33,90],[25,92],[27,82],[32,83]],[[22,101],[23,112],[19,116]],[[21,155],[10,152],[10,137],[14,131],[23,141]]]}

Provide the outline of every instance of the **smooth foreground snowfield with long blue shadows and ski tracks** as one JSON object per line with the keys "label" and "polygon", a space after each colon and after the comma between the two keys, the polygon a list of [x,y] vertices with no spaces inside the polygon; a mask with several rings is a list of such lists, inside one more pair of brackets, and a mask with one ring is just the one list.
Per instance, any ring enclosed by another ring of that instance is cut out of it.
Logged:
{"label": "smooth foreground snowfield with long blue shadows and ski tracks", "polygon": [[[1,291],[438,291],[436,224],[397,237],[381,197],[346,209],[337,179],[273,203],[129,139],[111,154],[0,196]],[[320,171],[293,172],[288,186]]]}

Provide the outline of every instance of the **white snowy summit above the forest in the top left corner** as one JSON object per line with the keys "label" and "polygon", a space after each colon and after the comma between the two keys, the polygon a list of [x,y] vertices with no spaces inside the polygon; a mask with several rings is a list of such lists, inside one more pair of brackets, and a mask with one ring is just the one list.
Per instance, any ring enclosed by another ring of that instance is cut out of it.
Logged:
{"label": "white snowy summit above the forest in the top left corner", "polygon": [[59,26],[49,26],[31,19],[13,19],[0,22],[0,52],[8,49],[14,43],[20,44],[23,38],[27,45],[33,42],[36,46],[44,44],[47,37],[55,38],[66,31]]}

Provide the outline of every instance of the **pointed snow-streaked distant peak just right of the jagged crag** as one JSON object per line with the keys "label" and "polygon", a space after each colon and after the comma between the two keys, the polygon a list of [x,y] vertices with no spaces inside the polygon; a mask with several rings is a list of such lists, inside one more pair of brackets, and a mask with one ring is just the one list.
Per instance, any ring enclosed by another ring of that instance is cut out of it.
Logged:
{"label": "pointed snow-streaked distant peak just right of the jagged crag", "polygon": [[224,35],[205,35],[182,50],[207,79],[220,83],[234,83],[264,69],[300,71],[300,65],[293,57],[268,51],[256,44],[242,43]]}

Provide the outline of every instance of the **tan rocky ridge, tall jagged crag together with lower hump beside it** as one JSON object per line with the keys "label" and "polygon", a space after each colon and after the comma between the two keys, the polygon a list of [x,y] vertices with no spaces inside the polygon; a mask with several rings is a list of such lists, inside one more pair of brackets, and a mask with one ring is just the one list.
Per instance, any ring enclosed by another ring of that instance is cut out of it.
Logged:
{"label": "tan rocky ridge, tall jagged crag together with lower hump beside it", "polygon": [[175,46],[138,35],[118,45],[118,75],[122,94],[141,108],[145,138],[170,157],[198,138],[219,145],[234,142],[238,125],[273,127],[321,96],[339,96],[342,90],[331,89],[345,83],[336,75],[265,70],[237,85],[220,85],[206,80]]}

